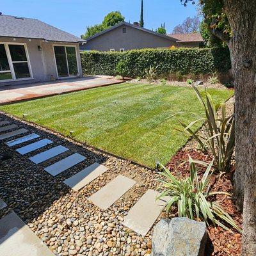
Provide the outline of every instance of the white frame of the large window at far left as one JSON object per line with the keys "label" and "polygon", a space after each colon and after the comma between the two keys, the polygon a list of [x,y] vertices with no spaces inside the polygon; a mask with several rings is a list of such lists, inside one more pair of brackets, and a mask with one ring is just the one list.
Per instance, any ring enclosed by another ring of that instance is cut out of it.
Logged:
{"label": "white frame of the large window at far left", "polygon": [[[7,60],[8,60],[9,67],[10,67],[10,70],[4,70],[4,71],[0,71],[0,72],[1,73],[11,72],[11,74],[12,74],[12,79],[0,80],[0,83],[34,79],[31,64],[30,64],[30,58],[29,58],[29,54],[28,54],[27,44],[26,43],[18,43],[18,42],[0,42],[0,44],[4,45],[4,49],[5,49]],[[26,61],[12,61],[12,56],[10,53],[9,45],[24,45],[27,60]],[[29,70],[30,77],[16,78],[13,63],[28,63],[28,70]]]}

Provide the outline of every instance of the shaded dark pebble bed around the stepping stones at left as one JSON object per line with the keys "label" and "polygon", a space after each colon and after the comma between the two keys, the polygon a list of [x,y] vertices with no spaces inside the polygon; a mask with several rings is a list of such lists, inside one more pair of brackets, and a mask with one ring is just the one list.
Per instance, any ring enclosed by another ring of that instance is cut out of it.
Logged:
{"label": "shaded dark pebble bed around the stepping stones at left", "polygon": [[[102,164],[108,160],[108,156],[72,143],[67,138],[60,138],[60,136],[43,129],[37,129],[35,126],[24,124],[3,114],[0,114],[0,118],[8,120],[12,124],[17,124],[19,127],[17,129],[28,129],[29,132],[26,134],[20,134],[14,138],[19,138],[32,132],[40,135],[40,138],[36,140],[28,141],[15,147],[8,147],[5,144],[6,141],[13,140],[13,138],[0,141],[0,154],[4,156],[0,160],[0,198],[8,205],[0,210],[0,218],[14,211],[25,223],[32,222],[34,219],[42,216],[43,213],[45,214],[45,211],[55,204],[56,200],[65,197],[68,193],[74,192],[63,183],[63,180],[80,172],[90,164],[95,162]],[[1,132],[1,134],[3,133]],[[45,138],[52,140],[53,143],[24,156],[15,151],[16,148]],[[42,164],[34,164],[29,160],[29,157],[58,145],[63,145],[69,148],[69,150]],[[44,171],[46,166],[74,153],[79,153],[85,156],[86,159],[56,177]],[[76,196],[76,192],[74,192],[73,196]],[[59,206],[61,207],[61,205]]]}

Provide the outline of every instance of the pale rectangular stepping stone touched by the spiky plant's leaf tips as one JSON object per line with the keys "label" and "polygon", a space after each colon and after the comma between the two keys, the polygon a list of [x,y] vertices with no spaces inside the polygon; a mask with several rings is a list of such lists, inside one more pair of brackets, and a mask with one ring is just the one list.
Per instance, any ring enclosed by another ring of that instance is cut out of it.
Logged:
{"label": "pale rectangular stepping stone touched by the spiky plant's leaf tips", "polygon": [[156,200],[157,196],[159,196],[157,191],[148,189],[124,217],[123,224],[141,236],[146,236],[168,200],[168,196]]}

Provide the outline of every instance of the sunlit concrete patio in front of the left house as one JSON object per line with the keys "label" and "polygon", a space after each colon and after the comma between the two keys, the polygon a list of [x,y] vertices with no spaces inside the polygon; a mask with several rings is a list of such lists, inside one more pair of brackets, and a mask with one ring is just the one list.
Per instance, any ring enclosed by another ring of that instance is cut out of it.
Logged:
{"label": "sunlit concrete patio in front of the left house", "polygon": [[124,81],[117,80],[112,76],[85,76],[46,83],[0,86],[0,104],[76,92],[117,83],[124,83]]}

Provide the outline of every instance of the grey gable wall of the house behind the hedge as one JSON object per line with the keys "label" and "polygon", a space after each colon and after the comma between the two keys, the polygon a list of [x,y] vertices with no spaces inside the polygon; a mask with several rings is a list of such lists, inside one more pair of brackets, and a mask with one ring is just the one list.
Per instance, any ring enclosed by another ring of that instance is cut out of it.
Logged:
{"label": "grey gable wall of the house behind the hedge", "polygon": [[[123,28],[126,28],[127,33],[123,33]],[[86,44],[81,45],[80,49],[98,51],[109,51],[110,49],[120,51],[120,49],[124,49],[127,51],[132,49],[170,47],[172,45],[178,46],[168,38],[123,25],[89,40]]]}

